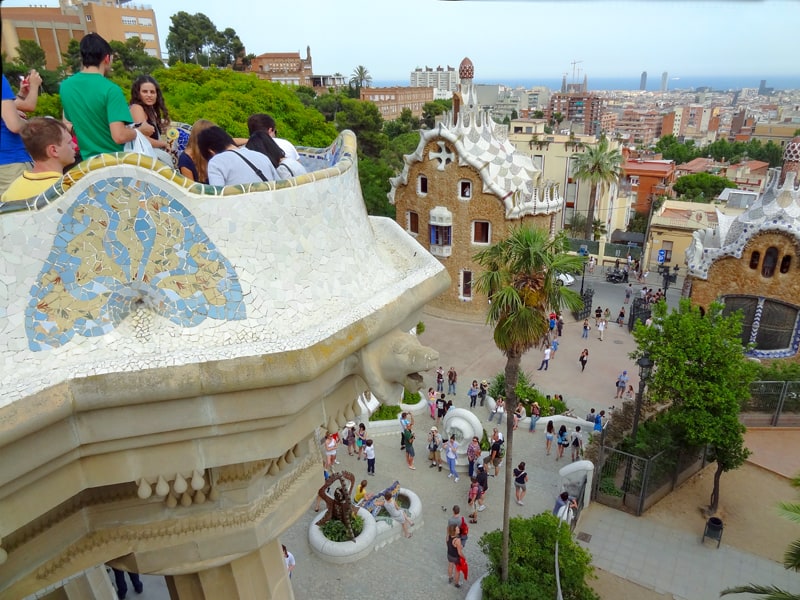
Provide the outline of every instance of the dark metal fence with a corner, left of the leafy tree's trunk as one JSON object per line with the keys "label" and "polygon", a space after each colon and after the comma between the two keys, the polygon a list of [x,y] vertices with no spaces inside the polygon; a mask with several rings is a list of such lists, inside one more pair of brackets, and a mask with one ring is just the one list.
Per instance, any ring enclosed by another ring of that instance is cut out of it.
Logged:
{"label": "dark metal fence with a corner, left of the leafy tree's trunk", "polygon": [[667,448],[643,458],[602,447],[592,497],[638,517],[706,464],[702,448]]}

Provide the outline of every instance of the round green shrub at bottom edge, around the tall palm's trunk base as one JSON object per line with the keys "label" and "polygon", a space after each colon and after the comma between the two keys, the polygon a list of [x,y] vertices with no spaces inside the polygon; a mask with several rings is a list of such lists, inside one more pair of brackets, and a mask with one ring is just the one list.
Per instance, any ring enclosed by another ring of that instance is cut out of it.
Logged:
{"label": "round green shrub at bottom edge, around the tall palm's trunk base", "polygon": [[557,517],[545,512],[527,519],[509,521],[511,538],[509,573],[500,582],[503,533],[499,529],[481,536],[478,544],[489,558],[489,574],[483,579],[484,600],[552,600],[556,597],[553,557],[558,538],[559,571],[564,598],[600,600],[586,584],[594,577],[592,557],[572,538],[569,527],[562,527]]}

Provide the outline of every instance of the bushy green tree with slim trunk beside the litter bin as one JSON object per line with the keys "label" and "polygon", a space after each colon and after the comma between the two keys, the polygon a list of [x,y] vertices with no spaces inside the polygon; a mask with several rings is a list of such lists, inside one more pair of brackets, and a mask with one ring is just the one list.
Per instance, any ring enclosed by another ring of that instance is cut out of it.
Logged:
{"label": "bushy green tree with slim trunk beside the litter bin", "polygon": [[640,322],[633,333],[635,357],[647,353],[655,363],[650,400],[671,403],[667,415],[673,430],[687,446],[708,446],[717,462],[712,514],[719,506],[722,473],[740,467],[749,454],[739,410],[757,371],[742,347],[741,314],[725,316],[723,309],[715,302],[703,313],[682,299],[668,313],[662,301],[653,308],[653,325]]}

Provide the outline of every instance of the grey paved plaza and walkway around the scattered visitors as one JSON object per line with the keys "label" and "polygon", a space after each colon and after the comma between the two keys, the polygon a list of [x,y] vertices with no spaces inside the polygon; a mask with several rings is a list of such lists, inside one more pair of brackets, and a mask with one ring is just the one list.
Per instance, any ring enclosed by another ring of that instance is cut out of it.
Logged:
{"label": "grey paved plaza and walkway around the scattered visitors", "polygon": [[[587,279],[596,289],[595,305],[608,306],[612,314],[616,314],[622,305],[623,286]],[[580,279],[577,283],[580,284]],[[634,288],[641,286],[634,284]],[[670,290],[670,296],[670,304],[676,303],[677,291]],[[490,379],[501,372],[505,364],[504,357],[494,346],[492,330],[484,325],[432,316],[426,316],[424,321],[426,330],[421,340],[440,352],[445,371],[450,366],[456,368],[459,379],[454,403],[467,408],[466,391],[472,380]],[[580,324],[567,315],[561,345],[550,368],[546,372],[536,371],[541,357],[535,350],[522,362],[523,370],[532,375],[532,381],[543,393],[562,394],[577,415],[585,414],[590,408],[608,409],[615,403],[613,385],[622,369],[628,370],[634,387],[638,385],[636,365],[628,358],[635,345],[627,328],[610,326],[602,342],[594,330],[591,333],[589,340],[581,339]],[[590,359],[586,371],[581,373],[577,359],[583,348],[589,348]],[[426,374],[425,390],[435,385],[433,377],[433,372]],[[491,431],[487,409],[478,407],[474,412]],[[530,481],[524,506],[518,506],[512,498],[512,515],[528,516],[550,510],[560,491],[558,469],[568,462],[566,459],[556,461],[555,452],[545,455],[544,422],[540,421],[536,433],[520,428],[515,434],[512,461],[527,463]],[[339,447],[339,467],[354,473],[356,482],[368,479],[367,489],[376,492],[399,480],[403,487],[420,496],[423,515],[417,519],[412,538],[397,539],[366,559],[338,566],[318,559],[311,552],[308,528],[315,513],[311,508],[313,498],[309,498],[308,512],[281,537],[297,561],[293,577],[296,598],[329,600],[390,594],[404,600],[429,600],[466,596],[468,586],[456,589],[447,583],[445,527],[453,504],[466,508],[468,478],[465,475],[455,483],[447,478],[446,468],[442,472],[428,468],[424,439],[432,424],[427,409],[416,416],[417,469],[413,471],[406,466],[405,455],[400,450],[399,429],[392,434],[372,436],[376,444],[375,477],[367,478],[366,463],[349,457],[346,449]],[[368,423],[367,428],[369,433]],[[479,513],[478,524],[470,525],[470,539],[465,547],[470,581],[486,570],[486,559],[477,542],[484,532],[497,529],[501,524],[503,484],[501,469],[500,476],[489,479],[487,509]],[[732,548],[724,539],[719,550],[708,541],[703,545],[700,543],[702,532],[672,530],[646,516],[637,518],[592,504],[584,511],[576,532],[590,536],[584,545],[592,553],[596,566],[645,588],[670,593],[675,599],[711,600],[719,596],[719,590],[749,581],[800,592],[800,577],[776,562]],[[168,598],[163,579],[148,577],[145,586],[142,596],[133,597]],[[735,597],[746,598],[745,595]]]}

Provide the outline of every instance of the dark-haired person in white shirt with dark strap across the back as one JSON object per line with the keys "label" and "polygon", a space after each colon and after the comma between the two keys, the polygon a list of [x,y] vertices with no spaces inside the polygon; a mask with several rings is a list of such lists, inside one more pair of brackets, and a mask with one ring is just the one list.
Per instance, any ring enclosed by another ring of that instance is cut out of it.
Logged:
{"label": "dark-haired person in white shirt with dark strap across the back", "polygon": [[224,186],[262,181],[276,181],[272,162],[247,148],[238,148],[233,138],[221,127],[209,127],[197,138],[200,154],[208,161],[208,183]]}

